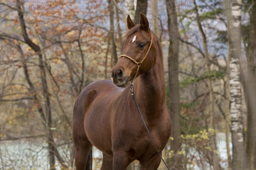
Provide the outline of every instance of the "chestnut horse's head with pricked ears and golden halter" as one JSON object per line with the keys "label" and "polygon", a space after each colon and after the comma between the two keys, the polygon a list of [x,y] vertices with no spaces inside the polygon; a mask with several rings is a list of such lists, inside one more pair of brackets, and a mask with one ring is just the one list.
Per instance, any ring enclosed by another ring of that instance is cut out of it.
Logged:
{"label": "chestnut horse's head with pricked ears and golden halter", "polygon": [[154,34],[149,29],[148,19],[140,14],[140,24],[135,25],[127,17],[128,32],[122,42],[123,53],[111,69],[111,79],[116,86],[126,87],[141,74],[150,70],[155,61]]}

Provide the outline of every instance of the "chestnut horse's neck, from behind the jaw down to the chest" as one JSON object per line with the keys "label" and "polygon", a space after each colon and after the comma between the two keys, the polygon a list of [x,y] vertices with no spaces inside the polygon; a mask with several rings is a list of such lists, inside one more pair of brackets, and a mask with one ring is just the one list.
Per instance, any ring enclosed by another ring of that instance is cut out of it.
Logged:
{"label": "chestnut horse's neck, from behind the jaw down to the chest", "polygon": [[137,103],[145,107],[148,118],[154,118],[163,111],[166,102],[162,57],[156,56],[154,66],[137,79],[134,82]]}

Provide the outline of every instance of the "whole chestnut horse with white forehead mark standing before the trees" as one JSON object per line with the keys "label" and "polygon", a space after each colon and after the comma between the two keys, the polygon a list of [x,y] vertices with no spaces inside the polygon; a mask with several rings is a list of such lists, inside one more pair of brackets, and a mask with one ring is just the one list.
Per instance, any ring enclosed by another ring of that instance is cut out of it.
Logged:
{"label": "whole chestnut horse with white forehead mark standing before the trees", "polygon": [[[160,154],[169,139],[171,120],[166,107],[161,43],[149,29],[144,14],[140,14],[137,25],[128,15],[127,26],[123,55],[111,69],[113,82],[93,82],[76,100],[72,135],[77,170],[91,168],[92,146],[103,153],[102,170],[126,170],[134,160],[140,161],[141,170],[159,167],[161,158],[130,93],[134,78],[137,103]],[[138,72],[133,60],[143,60]]]}

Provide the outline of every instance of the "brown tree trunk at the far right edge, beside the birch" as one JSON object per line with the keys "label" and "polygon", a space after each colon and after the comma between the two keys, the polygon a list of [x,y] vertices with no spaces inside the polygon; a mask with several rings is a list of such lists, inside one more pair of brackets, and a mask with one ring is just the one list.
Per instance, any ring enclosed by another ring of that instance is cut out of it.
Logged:
{"label": "brown tree trunk at the far right edge, beside the birch", "polygon": [[250,14],[250,33],[247,46],[247,141],[246,153],[248,167],[256,169],[256,0]]}

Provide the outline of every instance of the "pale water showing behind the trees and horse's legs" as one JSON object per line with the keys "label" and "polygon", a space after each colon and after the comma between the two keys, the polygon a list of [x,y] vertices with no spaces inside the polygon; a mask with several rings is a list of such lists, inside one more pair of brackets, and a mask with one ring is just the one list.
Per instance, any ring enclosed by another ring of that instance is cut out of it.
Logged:
{"label": "pale water showing behind the trees and horse's legs", "polygon": [[[225,133],[217,133],[216,144],[218,153],[221,158],[221,166],[227,169],[227,148],[225,142]],[[70,144],[58,144],[58,151],[67,162],[70,163],[70,154],[72,146]],[[230,142],[230,150],[232,151],[232,143]],[[196,162],[193,166],[187,165],[187,169],[198,170],[196,150],[189,150],[191,155],[195,156]],[[232,153],[230,153],[232,155]],[[100,169],[102,161],[102,153],[93,147],[93,169]],[[61,170],[61,165],[55,158],[56,170]],[[207,165],[206,165],[207,166]],[[209,165],[208,165],[209,167]],[[48,160],[48,141],[47,138],[20,138],[16,140],[3,140],[0,142],[0,169],[1,170],[46,170],[49,169]]]}

